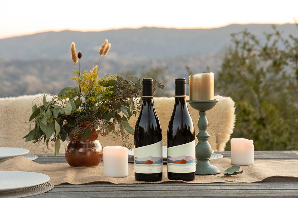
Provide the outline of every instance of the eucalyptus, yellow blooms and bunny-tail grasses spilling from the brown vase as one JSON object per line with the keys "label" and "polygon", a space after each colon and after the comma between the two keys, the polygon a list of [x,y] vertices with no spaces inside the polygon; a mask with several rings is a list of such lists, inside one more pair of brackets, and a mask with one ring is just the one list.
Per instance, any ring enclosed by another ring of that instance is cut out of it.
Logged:
{"label": "eucalyptus, yellow blooms and bunny-tail grasses spilling from the brown vase", "polygon": [[[136,116],[140,110],[138,97],[141,96],[140,80],[136,77],[130,80],[118,75],[105,75],[98,77],[101,61],[110,50],[111,44],[106,39],[99,50],[98,65],[90,72],[80,70],[82,53],[76,53],[75,43],[71,44],[71,59],[75,64],[73,72],[76,74],[71,79],[78,84],[77,87],[65,87],[58,95],[45,94],[36,98],[29,118],[29,133],[25,141],[48,142],[55,145],[55,155],[58,154],[61,142],[68,135],[77,138],[81,134],[84,140],[91,134],[91,128],[96,127],[98,133],[113,137],[122,137],[123,146],[131,148],[127,140],[128,134],[134,134],[134,129],[128,120]],[[77,63],[79,61],[78,67]],[[164,86],[155,81],[156,86]],[[47,101],[51,98],[51,101]],[[83,128],[82,123],[88,122]],[[32,129],[32,123],[35,123]]]}

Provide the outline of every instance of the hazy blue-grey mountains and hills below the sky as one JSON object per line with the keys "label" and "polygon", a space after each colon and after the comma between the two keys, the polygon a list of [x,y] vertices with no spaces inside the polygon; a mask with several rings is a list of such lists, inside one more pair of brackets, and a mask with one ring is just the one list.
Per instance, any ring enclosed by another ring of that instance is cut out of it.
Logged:
{"label": "hazy blue-grey mountains and hills below the sky", "polygon": [[[139,28],[101,32],[43,32],[0,40],[0,97],[59,92],[74,86],[70,80],[74,68],[70,44],[82,52],[81,65],[86,70],[98,63],[98,49],[104,39],[112,47],[101,65],[101,74],[117,73],[138,77],[152,68],[164,68],[160,78],[164,93],[172,95],[174,79],[188,78],[185,65],[195,73],[217,72],[222,52],[230,45],[231,33],[244,29],[265,40],[263,32],[273,32],[270,24],[229,25],[213,29]],[[277,25],[283,35],[296,34],[295,24]]]}

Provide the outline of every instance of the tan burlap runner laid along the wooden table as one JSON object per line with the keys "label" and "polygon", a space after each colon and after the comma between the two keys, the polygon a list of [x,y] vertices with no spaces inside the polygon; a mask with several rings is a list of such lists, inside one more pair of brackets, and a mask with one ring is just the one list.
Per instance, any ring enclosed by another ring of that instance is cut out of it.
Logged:
{"label": "tan burlap runner laid along the wooden table", "polygon": [[[215,159],[210,161],[211,164],[217,166],[220,170],[226,170],[231,167],[231,159]],[[54,185],[62,183],[70,184],[86,184],[91,182],[110,182],[113,184],[140,184],[140,183],[162,183],[162,182],[182,182],[179,180],[167,179],[167,167],[163,165],[163,179],[160,182],[138,182],[134,177],[134,165],[129,163],[129,176],[124,178],[105,177],[103,174],[103,163],[95,168],[76,169],[71,168],[68,164],[38,164],[24,157],[15,157],[0,164],[1,171],[30,171],[44,173],[51,177],[50,181]],[[249,166],[241,166],[240,170],[244,172],[235,176],[224,176],[224,179],[233,181],[228,182],[217,177],[223,176],[196,176],[196,179],[185,183],[252,183],[259,182],[265,178],[272,176],[298,177],[298,160],[285,161],[255,161],[255,164]],[[239,179],[239,180],[236,180]]]}

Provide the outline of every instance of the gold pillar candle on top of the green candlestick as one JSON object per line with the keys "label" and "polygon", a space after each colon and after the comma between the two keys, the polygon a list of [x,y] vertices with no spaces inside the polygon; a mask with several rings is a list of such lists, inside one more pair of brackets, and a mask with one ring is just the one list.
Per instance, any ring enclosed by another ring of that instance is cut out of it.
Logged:
{"label": "gold pillar candle on top of the green candlestick", "polygon": [[189,100],[214,100],[214,73],[195,73],[189,76]]}

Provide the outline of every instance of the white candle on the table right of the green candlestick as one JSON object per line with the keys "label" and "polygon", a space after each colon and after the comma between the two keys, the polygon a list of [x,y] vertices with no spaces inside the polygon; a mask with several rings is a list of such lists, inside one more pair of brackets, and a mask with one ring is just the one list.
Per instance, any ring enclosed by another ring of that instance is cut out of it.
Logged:
{"label": "white candle on the table right of the green candlestick", "polygon": [[231,164],[251,165],[254,163],[253,140],[245,138],[231,139]]}

